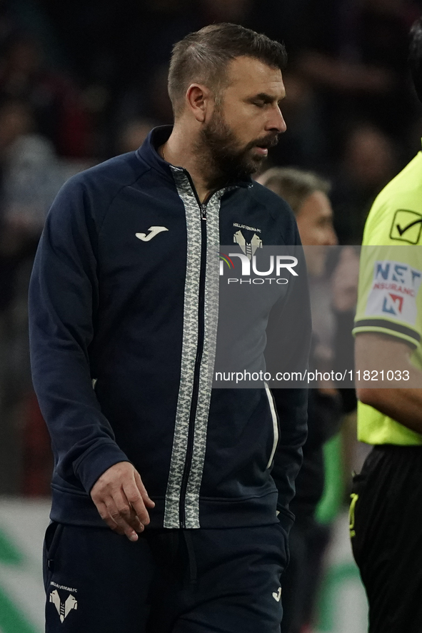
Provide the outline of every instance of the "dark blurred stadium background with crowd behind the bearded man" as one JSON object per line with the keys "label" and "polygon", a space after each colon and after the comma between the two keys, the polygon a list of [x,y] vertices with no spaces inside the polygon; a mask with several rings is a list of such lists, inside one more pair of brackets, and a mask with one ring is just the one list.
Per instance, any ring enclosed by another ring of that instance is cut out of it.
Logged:
{"label": "dark blurred stadium background with crowd behind the bearded man", "polygon": [[[340,243],[359,244],[376,194],[420,148],[406,57],[421,12],[416,0],[0,0],[0,633],[42,630],[51,454],[31,388],[26,290],[58,188],[171,123],[172,44],[232,21],[288,50],[288,131],[271,163],[327,176]],[[353,414],[341,442],[348,471],[363,453]],[[366,628],[344,510],[320,607],[318,632]]]}

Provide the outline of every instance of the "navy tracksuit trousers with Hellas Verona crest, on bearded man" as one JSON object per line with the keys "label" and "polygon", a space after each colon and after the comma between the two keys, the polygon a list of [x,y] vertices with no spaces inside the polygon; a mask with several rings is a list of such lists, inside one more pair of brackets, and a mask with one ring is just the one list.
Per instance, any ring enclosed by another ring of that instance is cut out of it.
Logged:
{"label": "navy tracksuit trousers with Hellas Verona crest, on bearded man", "polygon": [[286,533],[276,525],[146,530],[52,523],[47,633],[278,633]]}

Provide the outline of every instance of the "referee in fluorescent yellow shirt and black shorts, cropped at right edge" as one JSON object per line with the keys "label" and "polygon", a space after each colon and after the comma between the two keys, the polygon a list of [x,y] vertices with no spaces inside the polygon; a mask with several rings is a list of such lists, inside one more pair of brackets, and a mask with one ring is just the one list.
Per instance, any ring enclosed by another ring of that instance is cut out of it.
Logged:
{"label": "referee in fluorescent yellow shirt and black shorts, cropped at right edge", "polygon": [[[422,19],[411,30],[409,59],[422,101]],[[351,495],[369,632],[421,633],[422,152],[369,213],[353,333],[358,439],[373,445]]]}

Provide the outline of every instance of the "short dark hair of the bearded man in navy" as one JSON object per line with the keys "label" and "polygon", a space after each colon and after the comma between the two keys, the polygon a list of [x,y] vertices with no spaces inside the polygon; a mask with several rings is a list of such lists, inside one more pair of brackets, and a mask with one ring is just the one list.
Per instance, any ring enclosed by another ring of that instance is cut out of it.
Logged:
{"label": "short dark hair of the bearded man in navy", "polygon": [[169,96],[175,116],[181,111],[190,83],[206,83],[218,93],[225,85],[228,63],[241,56],[280,70],[287,62],[283,44],[239,24],[210,24],[177,42],[169,69]]}

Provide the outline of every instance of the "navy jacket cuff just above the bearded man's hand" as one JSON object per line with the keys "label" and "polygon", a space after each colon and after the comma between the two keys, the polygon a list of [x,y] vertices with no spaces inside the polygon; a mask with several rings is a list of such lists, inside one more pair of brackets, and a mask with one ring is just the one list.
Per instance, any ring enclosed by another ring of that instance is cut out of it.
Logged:
{"label": "navy jacket cuff just above the bearded man's hand", "polygon": [[110,440],[96,444],[91,450],[84,452],[84,455],[75,465],[74,471],[89,494],[103,472],[119,462],[130,462],[130,460],[115,442]]}

